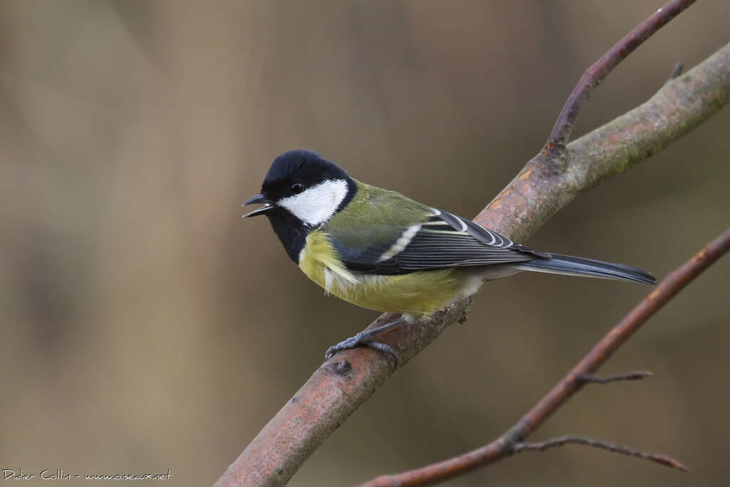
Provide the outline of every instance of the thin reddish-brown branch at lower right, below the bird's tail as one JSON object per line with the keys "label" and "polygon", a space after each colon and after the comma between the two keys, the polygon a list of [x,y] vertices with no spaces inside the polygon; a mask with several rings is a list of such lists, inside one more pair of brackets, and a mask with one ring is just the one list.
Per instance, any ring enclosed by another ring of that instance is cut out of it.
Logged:
{"label": "thin reddish-brown branch at lower right, below the bird's tail", "polygon": [[[453,459],[411,470],[410,472],[385,475],[371,480],[363,486],[426,486],[463,475],[473,469],[491,464],[515,453],[517,445],[523,444],[523,440],[529,437],[542,423],[545,423],[545,420],[555,413],[558,407],[561,407],[564,402],[580,390],[583,386],[583,382],[579,379],[580,376],[591,375],[596,372],[596,369],[607,361],[612,353],[639,329],[639,326],[646,323],[651,315],[669,302],[728,250],[730,250],[730,229],[727,229],[720,237],[712,240],[685,264],[669,273],[642,302],[637,304],[623,320],[593,347],[593,350],[588,352],[588,355],[583,357],[583,360],[501,437],[488,445],[464,453],[464,455],[456,456]],[[661,463],[680,468],[678,465],[681,464],[673,464],[673,460],[669,461],[671,460],[669,457],[661,458],[666,460]],[[655,459],[655,461],[658,460]]]}

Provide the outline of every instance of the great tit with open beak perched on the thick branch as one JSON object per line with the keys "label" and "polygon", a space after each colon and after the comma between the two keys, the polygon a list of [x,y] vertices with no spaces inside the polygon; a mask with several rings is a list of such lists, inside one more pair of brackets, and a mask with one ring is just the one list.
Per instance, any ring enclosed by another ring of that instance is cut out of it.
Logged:
{"label": "great tit with open beak perched on the thick branch", "polygon": [[264,204],[244,217],[266,215],[289,257],[326,293],[401,318],[330,347],[366,345],[397,356],[377,334],[428,318],[475,294],[487,280],[520,271],[604,277],[653,285],[642,269],[545,253],[516,244],[466,218],[354,180],[310,150],[274,159],[261,193]]}

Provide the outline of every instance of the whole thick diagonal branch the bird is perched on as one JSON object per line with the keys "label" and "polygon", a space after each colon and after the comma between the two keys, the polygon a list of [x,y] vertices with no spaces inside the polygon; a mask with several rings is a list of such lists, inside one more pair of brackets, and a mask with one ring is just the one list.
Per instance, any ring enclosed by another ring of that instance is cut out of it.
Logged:
{"label": "whole thick diagonal branch the bird is perched on", "polygon": [[[642,106],[570,143],[558,156],[541,153],[531,159],[475,221],[524,241],[575,196],[679,139],[728,99],[730,45],[667,83]],[[431,320],[383,334],[379,341],[391,345],[402,367],[448,326],[466,320],[469,304],[456,302]],[[371,326],[393,316],[382,315]],[[388,358],[368,348],[338,353],[315,370],[215,485],[285,484],[392,373]]]}

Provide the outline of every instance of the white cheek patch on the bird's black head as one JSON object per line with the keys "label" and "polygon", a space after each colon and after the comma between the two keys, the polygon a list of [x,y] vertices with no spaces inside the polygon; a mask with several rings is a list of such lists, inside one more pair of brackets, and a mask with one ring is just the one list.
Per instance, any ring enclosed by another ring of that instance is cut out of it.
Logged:
{"label": "white cheek patch on the bird's black head", "polygon": [[277,203],[310,226],[328,221],[347,196],[347,181],[327,180]]}

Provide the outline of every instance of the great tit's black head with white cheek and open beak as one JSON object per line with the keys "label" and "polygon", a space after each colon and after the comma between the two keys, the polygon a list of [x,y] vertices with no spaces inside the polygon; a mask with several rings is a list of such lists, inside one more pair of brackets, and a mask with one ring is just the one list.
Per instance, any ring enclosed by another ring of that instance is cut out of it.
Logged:
{"label": "great tit's black head with white cheek and open beak", "polygon": [[261,194],[244,204],[266,204],[244,216],[266,215],[293,261],[307,234],[344,208],[357,183],[311,150],[289,150],[274,159]]}

